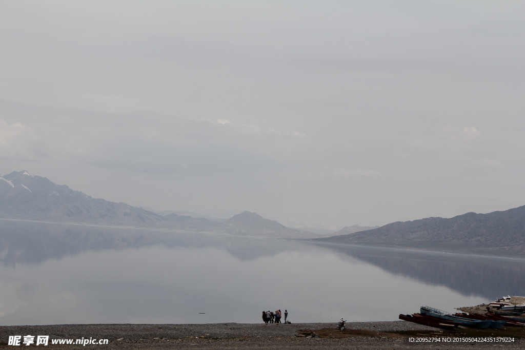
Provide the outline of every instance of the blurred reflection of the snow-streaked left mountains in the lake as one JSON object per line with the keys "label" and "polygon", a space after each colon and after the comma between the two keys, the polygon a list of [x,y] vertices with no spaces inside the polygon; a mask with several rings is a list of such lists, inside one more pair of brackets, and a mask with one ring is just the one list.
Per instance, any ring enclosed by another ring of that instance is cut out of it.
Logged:
{"label": "blurred reflection of the snow-streaked left mountains in the lake", "polygon": [[50,222],[0,219],[0,262],[4,266],[39,264],[87,251],[151,246],[222,248],[240,260],[254,260],[295,249],[294,242],[223,234],[200,234]]}

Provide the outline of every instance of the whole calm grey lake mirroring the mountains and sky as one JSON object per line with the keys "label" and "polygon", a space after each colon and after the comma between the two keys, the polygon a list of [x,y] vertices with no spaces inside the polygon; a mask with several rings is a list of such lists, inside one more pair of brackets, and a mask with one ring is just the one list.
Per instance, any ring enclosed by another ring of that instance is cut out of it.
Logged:
{"label": "whole calm grey lake mirroring the mountains and sky", "polygon": [[391,321],[524,295],[525,261],[0,220],[0,325]]}

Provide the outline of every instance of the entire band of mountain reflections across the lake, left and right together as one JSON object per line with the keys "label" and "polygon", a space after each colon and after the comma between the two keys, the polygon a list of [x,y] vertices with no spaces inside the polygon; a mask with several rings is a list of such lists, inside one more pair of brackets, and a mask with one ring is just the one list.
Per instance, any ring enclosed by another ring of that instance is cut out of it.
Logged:
{"label": "entire band of mountain reflections across the lake, left and right together", "polygon": [[525,260],[363,246],[303,243],[232,235],[0,220],[0,262],[5,267],[38,265],[88,251],[168,248],[222,249],[241,261],[286,251],[321,250],[358,259],[382,270],[463,295],[525,293]]}

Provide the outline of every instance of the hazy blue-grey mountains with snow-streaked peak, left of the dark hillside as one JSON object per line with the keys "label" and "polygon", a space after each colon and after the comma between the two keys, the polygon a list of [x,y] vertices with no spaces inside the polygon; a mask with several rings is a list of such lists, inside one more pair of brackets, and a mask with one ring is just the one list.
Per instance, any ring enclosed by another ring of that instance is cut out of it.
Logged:
{"label": "hazy blue-grey mountains with snow-streaked peak, left of the dark hillside", "polygon": [[314,234],[244,211],[225,221],[171,213],[165,216],[125,203],[92,198],[27,171],[0,176],[0,218],[215,232],[271,238],[315,238]]}

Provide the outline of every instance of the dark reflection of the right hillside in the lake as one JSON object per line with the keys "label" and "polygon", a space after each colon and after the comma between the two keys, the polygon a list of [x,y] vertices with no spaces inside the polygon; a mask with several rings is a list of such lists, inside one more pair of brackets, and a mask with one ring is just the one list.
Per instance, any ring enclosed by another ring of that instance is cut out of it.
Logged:
{"label": "dark reflection of the right hillside in the lake", "polygon": [[332,251],[374,264],[381,269],[432,285],[444,285],[463,295],[487,299],[524,295],[525,260],[469,254],[323,244]]}

